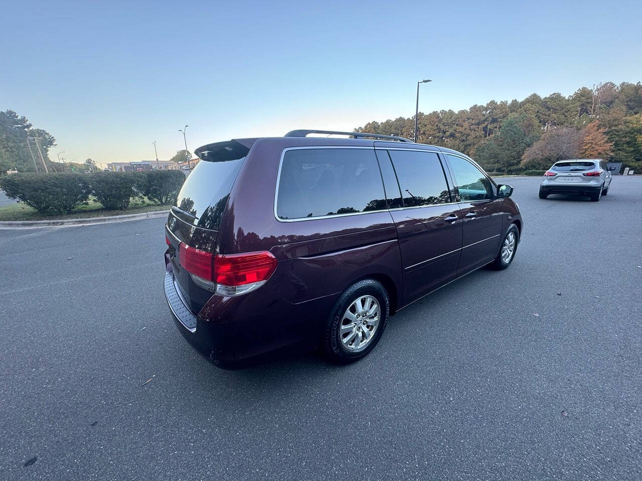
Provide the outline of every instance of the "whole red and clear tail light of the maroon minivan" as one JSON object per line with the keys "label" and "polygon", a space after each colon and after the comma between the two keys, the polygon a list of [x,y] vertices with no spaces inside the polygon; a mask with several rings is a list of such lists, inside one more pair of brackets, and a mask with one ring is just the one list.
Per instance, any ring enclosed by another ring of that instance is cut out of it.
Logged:
{"label": "whole red and clear tail light of the maroon minivan", "polygon": [[178,262],[192,280],[221,296],[254,291],[272,276],[279,261],[268,251],[216,254],[180,243]]}

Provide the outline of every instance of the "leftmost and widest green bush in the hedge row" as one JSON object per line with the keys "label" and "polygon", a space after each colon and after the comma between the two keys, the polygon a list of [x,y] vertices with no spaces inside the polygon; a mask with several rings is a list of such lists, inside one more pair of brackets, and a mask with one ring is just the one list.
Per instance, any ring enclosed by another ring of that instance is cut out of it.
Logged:
{"label": "leftmost and widest green bush in the hedge row", "polygon": [[10,174],[0,178],[0,187],[12,199],[20,199],[38,212],[69,214],[87,203],[89,179],[79,173]]}

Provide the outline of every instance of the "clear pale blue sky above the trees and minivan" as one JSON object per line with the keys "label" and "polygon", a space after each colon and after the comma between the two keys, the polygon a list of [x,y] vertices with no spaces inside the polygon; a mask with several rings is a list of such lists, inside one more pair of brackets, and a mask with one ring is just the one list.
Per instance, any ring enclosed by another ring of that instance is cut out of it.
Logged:
{"label": "clear pale blue sky above the trees and minivan", "polygon": [[639,2],[3,0],[0,110],[68,160],[642,80]]}

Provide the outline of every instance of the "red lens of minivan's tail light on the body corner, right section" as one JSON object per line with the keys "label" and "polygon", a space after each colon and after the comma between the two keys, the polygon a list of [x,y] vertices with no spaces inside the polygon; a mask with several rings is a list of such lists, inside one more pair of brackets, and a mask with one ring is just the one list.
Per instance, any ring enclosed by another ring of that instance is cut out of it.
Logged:
{"label": "red lens of minivan's tail light on the body corner, right section", "polygon": [[268,280],[279,261],[268,251],[216,255],[214,282],[243,285]]}

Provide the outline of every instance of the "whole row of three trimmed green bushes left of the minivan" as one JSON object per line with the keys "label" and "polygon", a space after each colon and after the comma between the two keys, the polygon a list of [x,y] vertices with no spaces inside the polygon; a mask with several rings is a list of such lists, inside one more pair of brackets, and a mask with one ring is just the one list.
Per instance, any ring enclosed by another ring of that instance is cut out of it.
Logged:
{"label": "whole row of three trimmed green bushes left of the minivan", "polygon": [[110,210],[126,209],[139,196],[166,204],[176,198],[184,181],[180,171],[18,173],[0,177],[0,189],[39,212],[69,214],[90,195]]}

